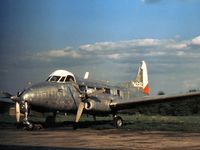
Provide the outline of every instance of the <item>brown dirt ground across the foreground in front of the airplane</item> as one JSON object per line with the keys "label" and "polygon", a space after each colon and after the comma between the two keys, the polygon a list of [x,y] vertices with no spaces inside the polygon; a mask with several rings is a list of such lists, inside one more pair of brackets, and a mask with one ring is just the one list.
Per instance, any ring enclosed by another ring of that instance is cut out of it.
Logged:
{"label": "brown dirt ground across the foreground in front of the airplane", "polygon": [[124,129],[0,129],[0,149],[200,149],[200,133]]}

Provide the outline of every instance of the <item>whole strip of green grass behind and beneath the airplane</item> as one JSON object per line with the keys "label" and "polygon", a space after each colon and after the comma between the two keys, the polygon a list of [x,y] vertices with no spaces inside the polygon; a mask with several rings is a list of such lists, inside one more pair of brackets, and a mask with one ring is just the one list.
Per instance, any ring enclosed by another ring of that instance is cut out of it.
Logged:
{"label": "whole strip of green grass behind and beneath the airplane", "polygon": [[[121,129],[135,131],[183,131],[200,132],[200,116],[148,116],[148,115],[120,115],[124,120]],[[74,115],[58,115],[56,127],[71,127]],[[83,115],[80,121],[81,128],[112,129],[112,117],[97,117],[96,122],[92,116]],[[36,123],[44,123],[45,118],[31,117]],[[0,115],[0,125],[6,126],[15,123],[15,117]]]}

